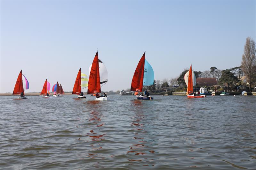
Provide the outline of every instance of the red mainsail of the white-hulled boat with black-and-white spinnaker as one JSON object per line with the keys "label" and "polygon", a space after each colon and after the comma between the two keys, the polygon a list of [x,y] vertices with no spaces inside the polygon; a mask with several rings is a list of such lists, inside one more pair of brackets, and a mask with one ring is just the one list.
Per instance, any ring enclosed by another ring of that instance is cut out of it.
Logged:
{"label": "red mainsail of the white-hulled boat with black-and-white spinnaker", "polygon": [[100,90],[100,70],[99,70],[99,57],[98,52],[96,53],[88,81],[87,94],[101,92]]}

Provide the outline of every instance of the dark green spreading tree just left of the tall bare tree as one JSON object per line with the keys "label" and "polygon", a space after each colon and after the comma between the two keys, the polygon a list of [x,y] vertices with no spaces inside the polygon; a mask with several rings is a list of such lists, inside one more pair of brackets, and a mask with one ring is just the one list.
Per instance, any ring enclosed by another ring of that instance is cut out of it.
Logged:
{"label": "dark green spreading tree just left of the tall bare tree", "polygon": [[231,73],[229,69],[221,71],[221,78],[219,79],[219,84],[227,85],[229,89],[230,85],[234,85],[238,81],[238,78],[234,75],[234,73]]}

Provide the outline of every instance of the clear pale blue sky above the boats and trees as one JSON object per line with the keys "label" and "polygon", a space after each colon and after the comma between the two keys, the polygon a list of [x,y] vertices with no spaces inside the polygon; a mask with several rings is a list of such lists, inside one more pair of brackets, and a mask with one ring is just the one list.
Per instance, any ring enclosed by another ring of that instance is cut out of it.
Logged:
{"label": "clear pale blue sky above the boats and trees", "polygon": [[[108,70],[103,91],[131,87],[146,51],[155,79],[240,66],[246,38],[256,39],[256,1],[0,1],[0,92],[18,74],[26,92],[48,78],[72,91],[77,72],[98,50]],[[86,91],[86,90],[84,90]]]}

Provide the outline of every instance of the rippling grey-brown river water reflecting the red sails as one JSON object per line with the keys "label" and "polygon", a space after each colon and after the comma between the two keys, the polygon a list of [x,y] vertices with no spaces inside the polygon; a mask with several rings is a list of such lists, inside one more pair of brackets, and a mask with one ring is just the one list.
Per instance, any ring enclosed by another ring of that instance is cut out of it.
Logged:
{"label": "rippling grey-brown river water reflecting the red sails", "polygon": [[256,97],[0,97],[1,169],[255,169]]}

